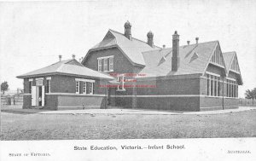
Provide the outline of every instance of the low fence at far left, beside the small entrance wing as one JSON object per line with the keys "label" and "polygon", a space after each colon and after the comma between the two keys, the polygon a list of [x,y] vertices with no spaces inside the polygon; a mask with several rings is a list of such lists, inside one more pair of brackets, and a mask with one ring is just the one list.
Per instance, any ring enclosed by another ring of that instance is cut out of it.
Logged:
{"label": "low fence at far left, beside the small entrance wing", "polygon": [[1,95],[1,105],[22,105],[23,95]]}

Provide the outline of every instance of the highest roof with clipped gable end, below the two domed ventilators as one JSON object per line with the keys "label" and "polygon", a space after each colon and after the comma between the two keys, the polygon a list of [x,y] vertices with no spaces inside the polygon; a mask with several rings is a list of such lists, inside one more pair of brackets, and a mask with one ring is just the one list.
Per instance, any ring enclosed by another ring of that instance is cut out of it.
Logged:
{"label": "highest roof with clipped gable end, below the two domed ventilators", "polygon": [[[84,60],[91,51],[95,51],[98,49],[108,49],[112,47],[118,47],[127,57],[127,59],[131,61],[131,63],[143,66],[145,66],[145,61],[143,59],[142,53],[144,51],[160,49],[157,46],[154,46],[154,48],[152,48],[148,45],[148,43],[138,40],[134,37],[129,40],[127,37],[125,37],[124,34],[109,29],[102,42],[96,44],[96,46],[91,48],[88,51],[87,55],[85,55]],[[84,62],[84,60],[82,61],[82,63]]]}

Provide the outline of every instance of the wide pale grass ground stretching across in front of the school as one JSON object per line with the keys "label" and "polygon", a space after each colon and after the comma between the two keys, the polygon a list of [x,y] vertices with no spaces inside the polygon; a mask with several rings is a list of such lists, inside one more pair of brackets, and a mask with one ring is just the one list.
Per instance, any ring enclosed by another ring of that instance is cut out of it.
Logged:
{"label": "wide pale grass ground stretching across in front of the school", "polygon": [[1,140],[255,137],[256,110],[214,115],[1,113]]}

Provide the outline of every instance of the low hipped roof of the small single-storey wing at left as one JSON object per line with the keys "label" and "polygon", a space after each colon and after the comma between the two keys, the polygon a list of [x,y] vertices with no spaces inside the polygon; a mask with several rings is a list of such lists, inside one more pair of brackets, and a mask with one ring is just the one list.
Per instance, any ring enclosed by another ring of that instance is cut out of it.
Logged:
{"label": "low hipped roof of the small single-storey wing at left", "polygon": [[77,60],[61,60],[50,66],[46,66],[41,69],[38,69],[32,72],[27,72],[26,74],[17,76],[17,78],[32,78],[37,76],[55,75],[55,74],[113,79],[113,77],[109,76],[108,74],[97,72],[83,66]]}

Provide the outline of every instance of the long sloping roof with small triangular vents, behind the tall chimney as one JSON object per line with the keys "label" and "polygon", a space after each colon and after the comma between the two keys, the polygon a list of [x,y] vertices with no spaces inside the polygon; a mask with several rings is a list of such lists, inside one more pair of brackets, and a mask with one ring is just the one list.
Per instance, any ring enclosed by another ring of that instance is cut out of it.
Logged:
{"label": "long sloping roof with small triangular vents, behind the tall chimney", "polygon": [[180,46],[177,72],[172,72],[172,48],[143,52],[146,66],[140,73],[145,77],[203,74],[217,45],[212,41]]}

